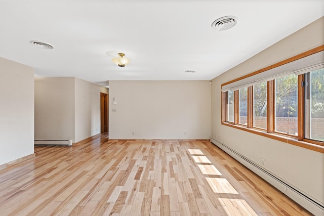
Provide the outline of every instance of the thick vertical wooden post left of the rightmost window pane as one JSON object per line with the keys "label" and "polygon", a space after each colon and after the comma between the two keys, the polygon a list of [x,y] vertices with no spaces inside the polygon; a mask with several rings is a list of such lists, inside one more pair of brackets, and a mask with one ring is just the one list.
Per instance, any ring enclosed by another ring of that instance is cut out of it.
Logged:
{"label": "thick vertical wooden post left of the rightmost window pane", "polygon": [[304,87],[302,87],[302,82],[304,82],[304,74],[298,75],[298,140],[303,141],[304,139]]}

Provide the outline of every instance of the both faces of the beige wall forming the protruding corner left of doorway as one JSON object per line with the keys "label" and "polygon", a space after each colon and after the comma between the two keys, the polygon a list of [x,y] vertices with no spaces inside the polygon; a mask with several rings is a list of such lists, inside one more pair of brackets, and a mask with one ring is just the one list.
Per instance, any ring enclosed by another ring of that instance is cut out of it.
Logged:
{"label": "both faces of the beige wall forming the protruding corner left of doorway", "polygon": [[75,77],[35,78],[35,140],[78,142],[100,133],[100,92]]}

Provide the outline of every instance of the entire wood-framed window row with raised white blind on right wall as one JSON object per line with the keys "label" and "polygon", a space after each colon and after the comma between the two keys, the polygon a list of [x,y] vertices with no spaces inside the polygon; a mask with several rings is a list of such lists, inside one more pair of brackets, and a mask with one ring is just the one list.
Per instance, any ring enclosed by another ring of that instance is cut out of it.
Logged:
{"label": "entire wood-framed window row with raised white blind on right wall", "polygon": [[324,45],[223,83],[222,123],[324,153],[323,55]]}

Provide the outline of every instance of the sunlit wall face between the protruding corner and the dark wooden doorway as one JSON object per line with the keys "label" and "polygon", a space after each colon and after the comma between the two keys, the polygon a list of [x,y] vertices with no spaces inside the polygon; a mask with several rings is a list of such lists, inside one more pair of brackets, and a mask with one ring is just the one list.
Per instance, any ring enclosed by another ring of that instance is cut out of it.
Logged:
{"label": "sunlit wall face between the protruding corner and the dark wooden doorway", "polygon": [[75,78],[75,142],[100,133],[100,85]]}

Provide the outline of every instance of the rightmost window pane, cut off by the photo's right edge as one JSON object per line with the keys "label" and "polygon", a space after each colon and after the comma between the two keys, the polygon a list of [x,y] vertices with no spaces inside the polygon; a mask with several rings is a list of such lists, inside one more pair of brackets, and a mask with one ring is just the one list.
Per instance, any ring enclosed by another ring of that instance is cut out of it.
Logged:
{"label": "rightmost window pane, cut off by the photo's right edge", "polygon": [[305,74],[305,138],[324,141],[324,68]]}

